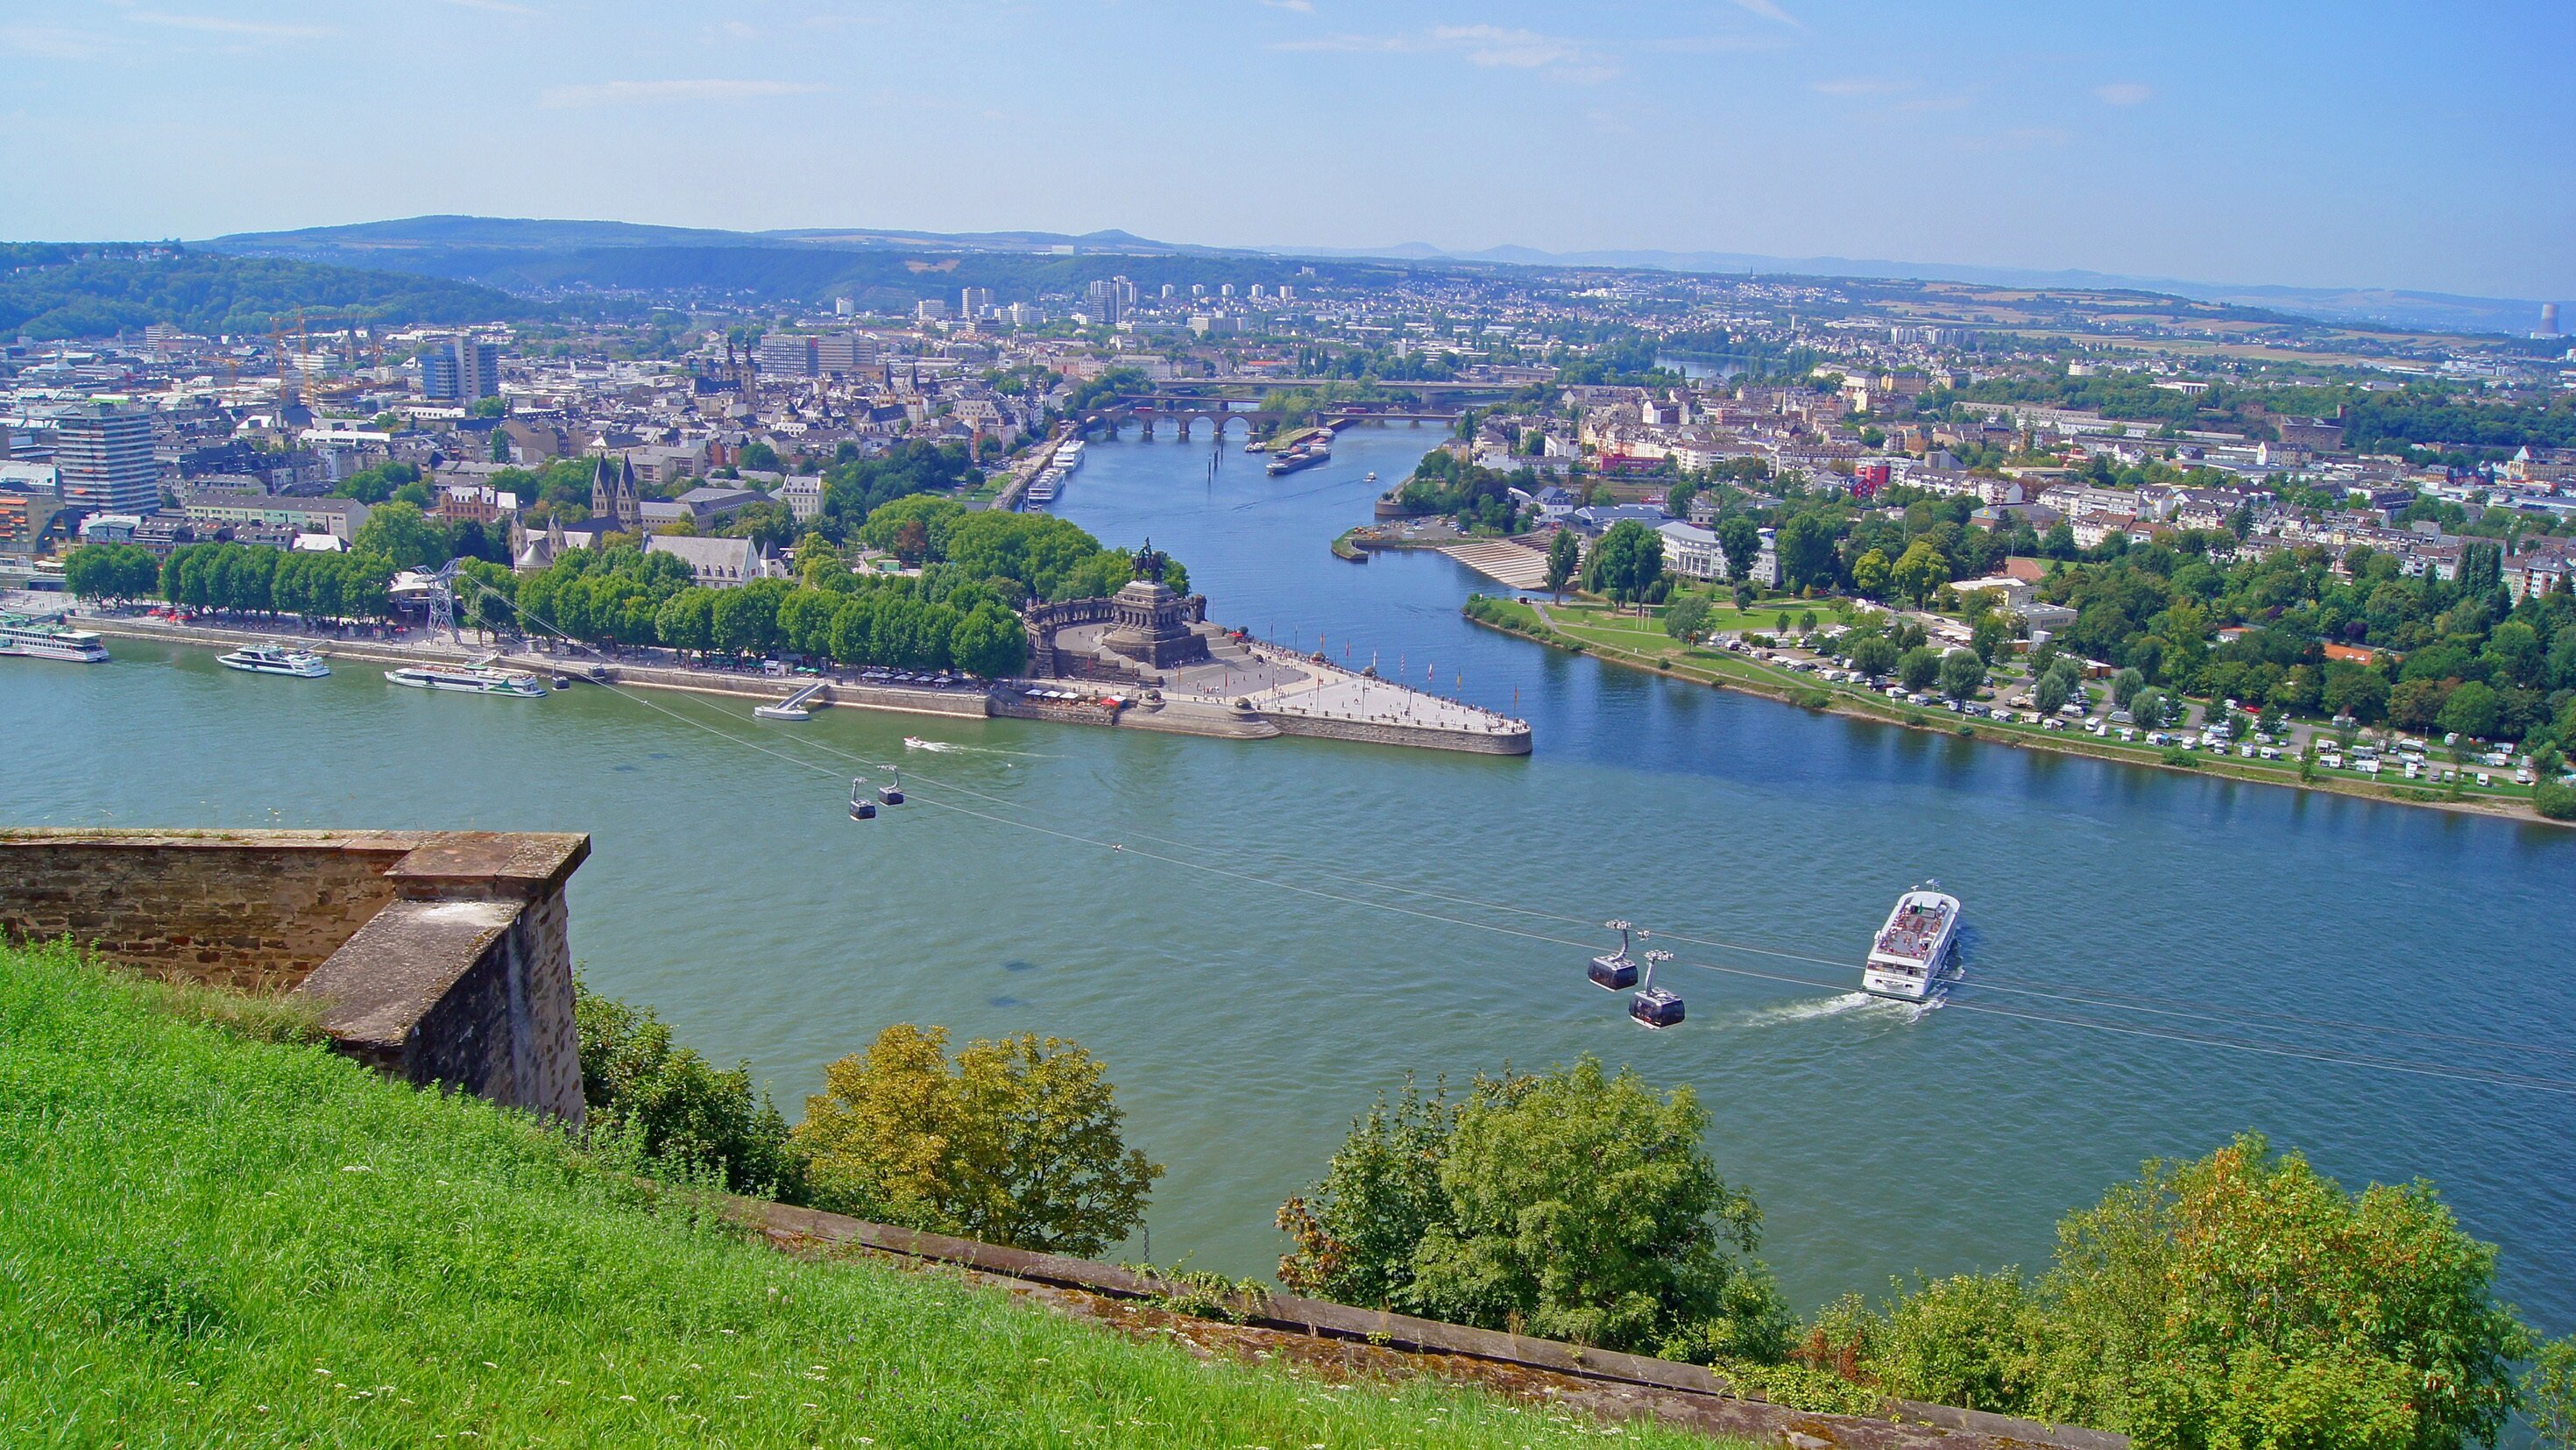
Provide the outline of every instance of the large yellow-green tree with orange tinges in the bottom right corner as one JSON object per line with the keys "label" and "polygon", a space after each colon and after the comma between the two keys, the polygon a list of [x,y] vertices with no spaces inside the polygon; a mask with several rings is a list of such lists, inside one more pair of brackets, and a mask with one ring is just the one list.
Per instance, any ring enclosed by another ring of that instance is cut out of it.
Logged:
{"label": "large yellow-green tree with orange tinges in the bottom right corner", "polygon": [[2360,1198],[2241,1136],[2058,1226],[2043,1414],[2148,1445],[2491,1442],[2527,1352],[2432,1185]]}

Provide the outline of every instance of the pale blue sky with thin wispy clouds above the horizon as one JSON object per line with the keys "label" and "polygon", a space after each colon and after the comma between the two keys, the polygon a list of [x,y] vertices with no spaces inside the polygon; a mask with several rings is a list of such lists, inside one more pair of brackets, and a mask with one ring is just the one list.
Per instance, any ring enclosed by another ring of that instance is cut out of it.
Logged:
{"label": "pale blue sky with thin wispy clouds above the horizon", "polygon": [[2576,299],[2576,5],[0,0],[0,237],[422,211]]}

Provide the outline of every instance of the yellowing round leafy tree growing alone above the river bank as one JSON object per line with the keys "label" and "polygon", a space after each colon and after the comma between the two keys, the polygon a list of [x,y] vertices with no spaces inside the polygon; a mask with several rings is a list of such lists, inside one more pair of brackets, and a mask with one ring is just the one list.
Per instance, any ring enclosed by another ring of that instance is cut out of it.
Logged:
{"label": "yellowing round leafy tree growing alone above the river bank", "polygon": [[899,1022],[824,1069],[793,1141],[817,1208],[1090,1257],[1144,1218],[1162,1167],[1118,1133],[1100,1061],[1077,1043]]}

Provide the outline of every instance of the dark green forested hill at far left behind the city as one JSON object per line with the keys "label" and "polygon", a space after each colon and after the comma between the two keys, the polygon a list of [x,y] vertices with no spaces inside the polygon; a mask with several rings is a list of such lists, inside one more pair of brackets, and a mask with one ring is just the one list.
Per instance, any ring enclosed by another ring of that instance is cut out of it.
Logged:
{"label": "dark green forested hill at far left behind the city", "polygon": [[466,281],[139,245],[0,245],[0,337],[108,337],[167,322],[510,322],[549,306]]}

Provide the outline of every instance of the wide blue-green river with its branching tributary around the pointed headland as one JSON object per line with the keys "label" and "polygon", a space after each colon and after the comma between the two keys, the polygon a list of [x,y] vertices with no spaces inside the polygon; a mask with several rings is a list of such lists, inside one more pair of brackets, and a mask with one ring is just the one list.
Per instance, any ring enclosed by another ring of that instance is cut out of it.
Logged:
{"label": "wide blue-green river with its branching tributary around the pointed headland", "polygon": [[[1157,1262],[1267,1272],[1280,1198],[1406,1074],[1600,1053],[1698,1089],[1798,1308],[2043,1267],[2058,1216],[2141,1159],[2262,1128],[2354,1187],[2432,1177],[2504,1247],[2506,1295],[2576,1329],[2576,834],[1814,716],[1476,631],[1463,567],[1327,551],[1368,518],[1363,474],[1435,440],[1355,430],[1265,479],[1239,446],[1211,474],[1206,433],[1128,435],[1061,513],[1151,536],[1216,618],[1517,708],[1528,760],[775,726],[116,641],[106,667],[0,662],[0,822],[592,832],[587,979],[750,1059],[791,1118],[886,1022],[1097,1051],[1170,1164],[1126,1247]],[[904,757],[922,804],[853,824],[824,747]],[[1850,963],[1927,876],[1968,904],[1971,986],[1857,1002]],[[1584,984],[1605,917],[1695,937],[1669,940],[1682,1028]]]}

